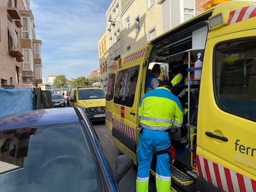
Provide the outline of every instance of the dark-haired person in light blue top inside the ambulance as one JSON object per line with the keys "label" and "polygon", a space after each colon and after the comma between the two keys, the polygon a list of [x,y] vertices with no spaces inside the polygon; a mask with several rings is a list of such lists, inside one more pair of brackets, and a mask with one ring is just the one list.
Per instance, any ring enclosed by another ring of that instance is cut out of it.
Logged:
{"label": "dark-haired person in light blue top inside the ambulance", "polygon": [[146,77],[146,86],[145,86],[146,93],[148,91],[155,90],[158,87],[158,85],[159,85],[158,77],[159,77],[160,73],[161,73],[160,65],[155,64],[153,66],[151,72],[148,73],[148,75]]}

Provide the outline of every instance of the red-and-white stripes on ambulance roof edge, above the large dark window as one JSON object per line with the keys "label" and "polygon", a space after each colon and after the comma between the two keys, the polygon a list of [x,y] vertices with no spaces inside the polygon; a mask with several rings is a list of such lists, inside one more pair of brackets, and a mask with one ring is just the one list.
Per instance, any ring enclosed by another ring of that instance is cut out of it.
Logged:
{"label": "red-and-white stripes on ambulance roof edge, above the large dark window", "polygon": [[256,17],[256,6],[242,7],[241,9],[230,12],[227,25],[232,25],[252,17]]}

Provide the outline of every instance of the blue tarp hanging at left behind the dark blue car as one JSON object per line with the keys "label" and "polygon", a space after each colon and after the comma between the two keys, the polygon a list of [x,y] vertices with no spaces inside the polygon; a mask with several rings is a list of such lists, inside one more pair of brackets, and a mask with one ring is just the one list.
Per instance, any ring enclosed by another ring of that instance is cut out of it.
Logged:
{"label": "blue tarp hanging at left behind the dark blue car", "polygon": [[35,109],[35,97],[31,88],[0,88],[0,115]]}

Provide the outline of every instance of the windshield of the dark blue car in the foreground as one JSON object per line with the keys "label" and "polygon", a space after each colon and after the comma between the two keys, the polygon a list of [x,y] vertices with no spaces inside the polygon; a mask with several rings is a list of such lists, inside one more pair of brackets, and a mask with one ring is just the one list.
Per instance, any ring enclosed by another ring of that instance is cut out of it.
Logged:
{"label": "windshield of the dark blue car in the foreground", "polygon": [[103,191],[80,124],[0,131],[1,191]]}

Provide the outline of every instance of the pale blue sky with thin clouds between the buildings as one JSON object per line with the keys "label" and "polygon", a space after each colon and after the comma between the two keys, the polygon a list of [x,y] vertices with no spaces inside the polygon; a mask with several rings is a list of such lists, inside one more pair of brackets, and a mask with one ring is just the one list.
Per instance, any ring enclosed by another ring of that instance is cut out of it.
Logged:
{"label": "pale blue sky with thin clouds between the buildings", "polygon": [[100,69],[98,40],[111,0],[30,0],[36,40],[41,40],[43,77],[87,77]]}

